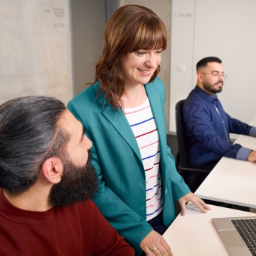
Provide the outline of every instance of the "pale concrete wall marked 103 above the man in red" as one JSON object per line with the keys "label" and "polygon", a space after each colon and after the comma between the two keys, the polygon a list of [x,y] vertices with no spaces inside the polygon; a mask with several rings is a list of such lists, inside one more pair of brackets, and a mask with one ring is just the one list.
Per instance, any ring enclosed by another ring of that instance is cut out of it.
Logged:
{"label": "pale concrete wall marked 103 above the man in red", "polygon": [[0,104],[24,95],[72,97],[68,0],[1,0]]}

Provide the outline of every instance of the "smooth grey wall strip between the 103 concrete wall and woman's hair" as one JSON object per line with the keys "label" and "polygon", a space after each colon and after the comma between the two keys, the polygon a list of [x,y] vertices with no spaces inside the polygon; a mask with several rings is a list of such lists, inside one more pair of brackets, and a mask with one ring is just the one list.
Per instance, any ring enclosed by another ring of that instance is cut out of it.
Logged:
{"label": "smooth grey wall strip between the 103 concrete wall and woman's hair", "polygon": [[70,0],[73,95],[94,81],[95,63],[103,50],[105,1]]}

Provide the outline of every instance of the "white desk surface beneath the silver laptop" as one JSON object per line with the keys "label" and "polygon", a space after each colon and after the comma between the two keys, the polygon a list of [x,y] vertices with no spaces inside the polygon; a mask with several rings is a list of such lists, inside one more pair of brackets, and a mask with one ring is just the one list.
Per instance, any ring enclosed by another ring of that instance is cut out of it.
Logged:
{"label": "white desk surface beneath the silver laptop", "polygon": [[163,234],[174,256],[228,256],[212,223],[216,217],[256,216],[225,207],[210,205],[212,209],[203,214],[194,204],[187,204],[186,215],[179,215]]}

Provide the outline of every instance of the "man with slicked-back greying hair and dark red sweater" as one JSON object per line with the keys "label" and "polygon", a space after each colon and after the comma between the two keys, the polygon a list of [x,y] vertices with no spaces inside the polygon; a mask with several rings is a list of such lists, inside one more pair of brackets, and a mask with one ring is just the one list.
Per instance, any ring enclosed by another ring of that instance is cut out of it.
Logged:
{"label": "man with slicked-back greying hair and dark red sweater", "polygon": [[134,255],[90,200],[82,125],[55,98],[0,106],[0,255]]}

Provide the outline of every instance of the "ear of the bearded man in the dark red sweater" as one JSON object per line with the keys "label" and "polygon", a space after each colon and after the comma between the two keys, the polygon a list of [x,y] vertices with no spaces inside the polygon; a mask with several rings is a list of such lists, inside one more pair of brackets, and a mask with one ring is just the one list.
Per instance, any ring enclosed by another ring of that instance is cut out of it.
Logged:
{"label": "ear of the bearded man in the dark red sweater", "polygon": [[61,180],[63,173],[63,163],[60,158],[51,157],[42,164],[42,174],[52,184],[57,184]]}

